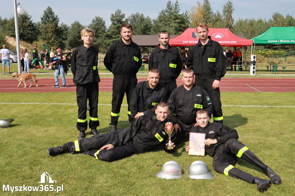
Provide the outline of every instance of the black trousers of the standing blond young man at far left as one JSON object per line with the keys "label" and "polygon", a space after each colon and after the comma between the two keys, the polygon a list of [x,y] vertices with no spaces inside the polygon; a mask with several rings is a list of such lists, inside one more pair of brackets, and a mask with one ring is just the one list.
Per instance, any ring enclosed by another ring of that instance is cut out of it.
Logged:
{"label": "black trousers of the standing blond young man at far left", "polygon": [[89,128],[96,128],[99,126],[97,116],[98,105],[98,82],[77,84],[76,95],[78,104],[78,121],[77,129],[79,131],[87,130],[87,99],[89,101]]}

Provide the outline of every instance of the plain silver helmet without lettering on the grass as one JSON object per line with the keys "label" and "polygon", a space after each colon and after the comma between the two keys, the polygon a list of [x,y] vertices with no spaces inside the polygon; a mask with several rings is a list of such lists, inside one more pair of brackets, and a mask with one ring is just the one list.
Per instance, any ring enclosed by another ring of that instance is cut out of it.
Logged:
{"label": "plain silver helmet without lettering on the grass", "polygon": [[187,175],[192,179],[211,179],[214,177],[204,161],[194,161],[189,166],[189,173]]}

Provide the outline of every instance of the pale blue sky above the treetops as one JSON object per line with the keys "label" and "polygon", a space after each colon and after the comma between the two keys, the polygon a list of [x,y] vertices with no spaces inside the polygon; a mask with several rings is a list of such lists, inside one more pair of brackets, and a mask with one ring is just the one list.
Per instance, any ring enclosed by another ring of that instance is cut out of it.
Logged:
{"label": "pale blue sky above the treetops", "polygon": [[[222,12],[222,5],[226,0],[209,0],[213,11],[219,10]],[[175,1],[171,1],[173,4]],[[190,10],[192,6],[196,5],[197,1],[179,0],[181,13]],[[203,0],[200,1],[201,3]],[[273,12],[279,12],[286,16],[292,15],[295,18],[294,0],[248,0],[248,1],[232,1],[235,9],[233,13],[234,19],[239,17],[246,18],[262,18],[269,19]],[[117,9],[121,9],[125,17],[130,16],[132,13],[139,12],[145,16],[155,19],[162,9],[165,9],[167,0],[149,0],[149,1],[118,1],[118,0],[48,0],[48,1],[35,1],[35,0],[17,0],[21,7],[32,16],[34,22],[40,21],[43,11],[50,6],[60,19],[60,23],[64,22],[71,25],[74,21],[79,21],[83,25],[88,25],[95,16],[100,16],[106,21],[106,27],[111,24],[110,16]],[[1,0],[0,16],[9,18],[14,15],[13,0]]]}

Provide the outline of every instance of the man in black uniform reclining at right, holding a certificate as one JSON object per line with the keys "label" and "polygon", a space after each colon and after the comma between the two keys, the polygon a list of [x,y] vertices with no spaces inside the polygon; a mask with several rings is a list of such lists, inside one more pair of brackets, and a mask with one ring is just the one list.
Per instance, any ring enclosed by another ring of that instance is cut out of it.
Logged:
{"label": "man in black uniform reclining at right, holding a certificate", "polygon": [[[193,127],[191,132],[206,134],[205,152],[213,157],[215,171],[256,184],[260,192],[266,191],[271,182],[275,185],[282,182],[270,167],[265,165],[245,144],[237,140],[239,136],[235,129],[230,129],[230,127],[217,122],[209,123],[209,120],[208,112],[200,109],[196,113],[196,121],[199,125]],[[189,151],[189,146],[186,147],[186,151]],[[254,177],[234,167],[237,157],[263,170],[271,180]]]}

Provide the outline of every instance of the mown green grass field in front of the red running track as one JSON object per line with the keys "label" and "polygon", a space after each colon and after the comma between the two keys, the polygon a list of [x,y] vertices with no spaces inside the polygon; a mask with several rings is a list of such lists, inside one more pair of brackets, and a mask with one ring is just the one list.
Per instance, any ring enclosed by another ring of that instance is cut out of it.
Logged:
{"label": "mown green grass field in front of the red running track", "polygon": [[[247,145],[282,179],[263,195],[294,195],[294,93],[221,93],[224,124],[237,129],[240,141]],[[99,133],[110,131],[111,92],[99,93]],[[115,162],[94,157],[63,154],[50,157],[49,147],[63,145],[78,137],[76,129],[76,94],[2,93],[1,118],[14,118],[11,127],[0,128],[0,182],[10,186],[39,186],[40,175],[48,172],[63,185],[61,195],[261,195],[256,185],[219,174],[213,170],[212,157],[189,156],[185,142],[172,154],[156,151],[132,155]],[[19,103],[19,104],[18,104]],[[32,104],[29,104],[32,103]],[[118,129],[127,127],[127,106],[124,99]],[[90,137],[90,129],[86,132]],[[167,161],[177,161],[183,177],[165,180],[156,177]],[[187,177],[190,164],[196,160],[207,163],[212,180]],[[237,168],[268,179],[258,168],[238,159]],[[2,191],[1,195],[11,192]],[[27,195],[29,192],[14,192]],[[38,193],[35,193],[38,194]],[[45,192],[54,195],[54,192]]]}

